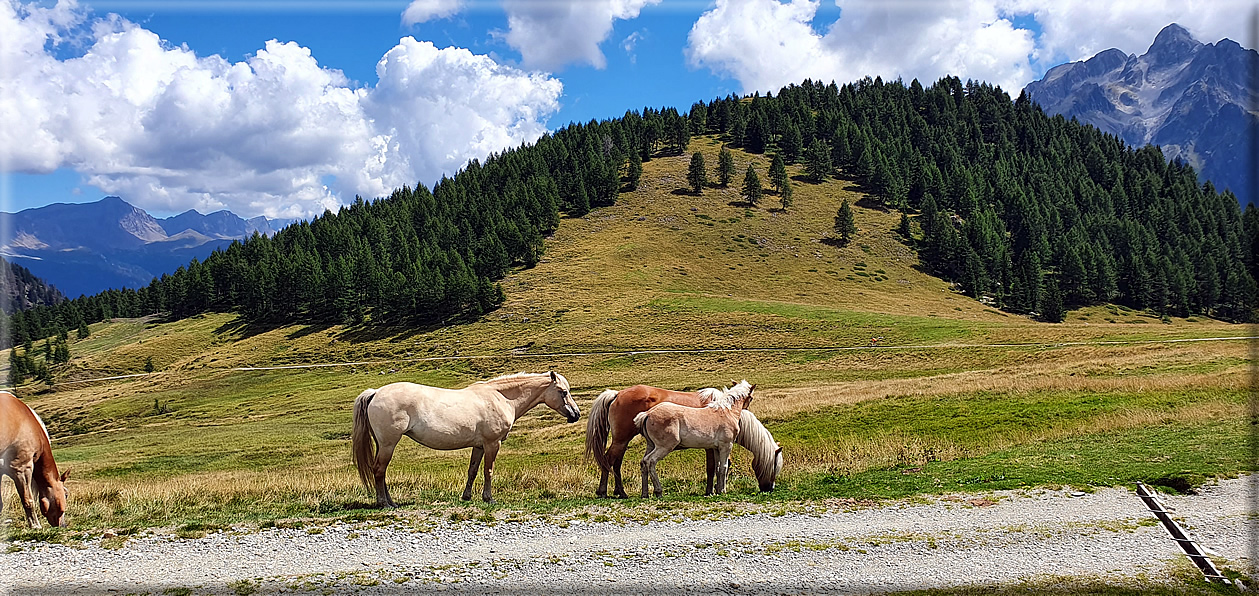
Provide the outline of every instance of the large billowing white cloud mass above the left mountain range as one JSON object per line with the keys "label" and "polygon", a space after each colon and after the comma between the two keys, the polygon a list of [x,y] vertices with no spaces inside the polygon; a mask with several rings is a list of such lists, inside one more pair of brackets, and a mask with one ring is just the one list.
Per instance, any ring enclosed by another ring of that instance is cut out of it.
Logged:
{"label": "large billowing white cloud mass above the left mountain range", "polygon": [[[54,57],[74,32],[86,49]],[[73,3],[0,1],[0,171],[73,168],[159,210],[307,215],[432,183],[538,139],[562,93],[545,74],[412,38],[356,88],[296,43],[196,57]]]}

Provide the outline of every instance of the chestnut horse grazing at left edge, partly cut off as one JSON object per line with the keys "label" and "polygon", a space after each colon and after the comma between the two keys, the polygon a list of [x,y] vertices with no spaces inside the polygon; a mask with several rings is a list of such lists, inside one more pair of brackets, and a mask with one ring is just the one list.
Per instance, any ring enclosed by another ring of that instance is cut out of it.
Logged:
{"label": "chestnut horse grazing at left edge, partly cut off", "polygon": [[[57,474],[44,421],[8,391],[0,391],[0,475],[13,479],[31,528],[39,527],[34,495],[39,496],[39,512],[48,523],[55,527],[65,523],[65,500],[69,499],[65,479],[71,473]],[[0,499],[0,510],[3,508]]]}

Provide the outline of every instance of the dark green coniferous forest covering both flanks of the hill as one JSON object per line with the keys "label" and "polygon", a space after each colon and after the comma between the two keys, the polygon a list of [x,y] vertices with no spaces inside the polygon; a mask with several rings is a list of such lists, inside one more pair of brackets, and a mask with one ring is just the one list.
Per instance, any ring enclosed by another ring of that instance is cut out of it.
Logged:
{"label": "dark green coniferous forest covering both flanks of the hill", "polygon": [[[1199,184],[1155,146],[1046,116],[1025,95],[953,77],[805,81],[777,95],[630,111],[572,123],[473,160],[433,189],[356,199],[337,213],[253,236],[140,290],[108,290],[0,320],[11,344],[113,316],[235,311],[257,324],[402,325],[476,316],[496,281],[531,267],[560,214],[633,188],[642,161],[692,135],[855,180],[912,214],[923,265],[976,299],[1058,321],[1099,302],[1249,320],[1259,214]],[[624,186],[622,186],[624,184]]]}

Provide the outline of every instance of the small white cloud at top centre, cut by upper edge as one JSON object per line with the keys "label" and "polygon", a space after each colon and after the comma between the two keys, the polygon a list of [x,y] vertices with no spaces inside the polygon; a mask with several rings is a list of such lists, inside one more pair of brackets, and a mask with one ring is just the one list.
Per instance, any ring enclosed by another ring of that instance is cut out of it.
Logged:
{"label": "small white cloud at top centre, cut by upper edge", "polygon": [[607,66],[599,50],[614,20],[636,19],[660,0],[504,0],[507,44],[530,68],[558,69],[568,63]]}

